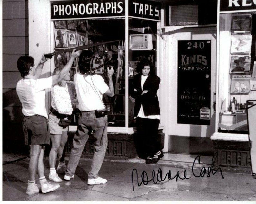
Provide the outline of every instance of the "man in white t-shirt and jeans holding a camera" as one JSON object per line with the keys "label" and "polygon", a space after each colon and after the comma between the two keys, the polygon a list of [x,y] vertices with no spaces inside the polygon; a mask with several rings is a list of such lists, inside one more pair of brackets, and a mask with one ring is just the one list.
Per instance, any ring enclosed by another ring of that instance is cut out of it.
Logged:
{"label": "man in white t-shirt and jeans holding a camera", "polygon": [[78,165],[84,146],[93,132],[96,141],[94,142],[94,156],[88,173],[89,185],[106,183],[107,180],[98,176],[107,149],[107,115],[102,110],[105,108],[102,95],[113,97],[114,87],[112,76],[113,68],[108,68],[108,85],[102,76],[90,71],[90,59],[92,52],[83,50],[78,61],[80,73],[74,75],[74,85],[79,102],[78,108],[82,116],[78,118],[78,127],[73,139],[73,147],[70,152],[69,161],[64,176],[65,180],[74,178],[75,169]]}

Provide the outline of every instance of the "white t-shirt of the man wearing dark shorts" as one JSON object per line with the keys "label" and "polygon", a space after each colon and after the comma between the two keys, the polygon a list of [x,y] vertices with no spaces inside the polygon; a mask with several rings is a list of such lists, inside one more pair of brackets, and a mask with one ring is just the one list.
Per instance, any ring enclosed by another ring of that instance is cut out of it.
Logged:
{"label": "white t-shirt of the man wearing dark shorts", "polygon": [[48,118],[45,108],[45,89],[51,88],[52,82],[52,77],[18,81],[16,91],[25,116],[41,115]]}

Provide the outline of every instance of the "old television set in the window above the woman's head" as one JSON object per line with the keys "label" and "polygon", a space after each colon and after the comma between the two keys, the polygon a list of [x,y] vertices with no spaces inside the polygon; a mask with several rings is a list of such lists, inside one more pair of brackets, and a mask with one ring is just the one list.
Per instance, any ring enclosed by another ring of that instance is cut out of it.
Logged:
{"label": "old television set in the window above the woman's head", "polygon": [[151,50],[152,34],[135,34],[129,36],[129,49],[131,50]]}

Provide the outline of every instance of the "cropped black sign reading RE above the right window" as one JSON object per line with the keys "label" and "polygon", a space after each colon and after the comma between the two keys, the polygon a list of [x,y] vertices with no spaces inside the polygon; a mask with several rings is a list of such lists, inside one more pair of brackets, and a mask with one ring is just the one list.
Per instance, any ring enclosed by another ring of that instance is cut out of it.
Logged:
{"label": "cropped black sign reading RE above the right window", "polygon": [[256,0],[220,0],[220,12],[255,9]]}

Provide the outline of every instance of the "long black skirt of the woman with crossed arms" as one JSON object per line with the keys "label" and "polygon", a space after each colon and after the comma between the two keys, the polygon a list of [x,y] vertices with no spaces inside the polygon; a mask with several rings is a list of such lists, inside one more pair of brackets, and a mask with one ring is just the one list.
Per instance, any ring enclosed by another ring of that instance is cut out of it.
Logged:
{"label": "long black skirt of the woman with crossed arms", "polygon": [[134,134],[133,141],[140,158],[146,159],[161,150],[158,126],[158,119],[136,118],[137,133]]}

